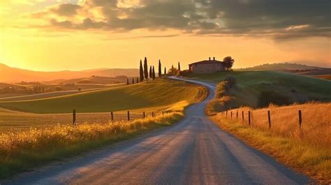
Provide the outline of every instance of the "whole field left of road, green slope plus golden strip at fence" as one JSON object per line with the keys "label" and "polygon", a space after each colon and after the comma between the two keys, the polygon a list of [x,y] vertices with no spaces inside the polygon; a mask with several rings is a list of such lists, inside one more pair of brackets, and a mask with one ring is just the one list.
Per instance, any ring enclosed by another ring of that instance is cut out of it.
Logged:
{"label": "whole field left of road, green slope plus golden strip at fence", "polygon": [[[71,126],[73,108],[77,109],[77,124],[107,124],[111,119],[110,111],[115,110],[117,110],[114,112],[115,121],[127,120],[127,110],[130,110],[131,120],[139,119],[142,117],[142,112],[145,112],[146,115],[150,115],[152,112],[161,114],[173,103],[179,101],[194,103],[205,98],[205,95],[205,89],[197,85],[157,80],[149,84],[133,84],[58,98],[11,102],[8,105],[14,105],[14,110],[0,108],[0,133],[17,133],[27,131],[31,127],[45,128],[57,126],[57,124]],[[71,107],[71,105],[75,105],[75,107]],[[15,109],[21,110],[21,108],[27,108],[27,110],[22,110],[31,112],[15,111]]]}

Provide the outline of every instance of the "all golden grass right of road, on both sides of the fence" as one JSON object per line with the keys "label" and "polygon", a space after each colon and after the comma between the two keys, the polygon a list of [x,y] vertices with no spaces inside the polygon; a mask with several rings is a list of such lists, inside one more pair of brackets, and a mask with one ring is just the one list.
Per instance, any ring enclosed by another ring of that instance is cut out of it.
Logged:
{"label": "all golden grass right of road, on both sides of the fence", "polygon": [[[239,108],[211,119],[223,130],[233,133],[249,145],[264,151],[277,160],[318,179],[331,183],[331,103],[305,103],[253,110]],[[248,125],[248,110],[252,112]],[[271,113],[268,128],[267,110]],[[298,110],[302,110],[302,128],[298,124]],[[230,112],[233,112],[233,119]],[[236,113],[239,119],[236,119]],[[244,111],[244,121],[242,121]]]}

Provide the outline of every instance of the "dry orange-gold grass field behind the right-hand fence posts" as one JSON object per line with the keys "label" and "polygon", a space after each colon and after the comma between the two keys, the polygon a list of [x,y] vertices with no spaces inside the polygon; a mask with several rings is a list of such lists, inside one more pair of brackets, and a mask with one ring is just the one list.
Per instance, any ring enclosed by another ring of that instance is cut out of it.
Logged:
{"label": "dry orange-gold grass field behind the right-hand fence posts", "polygon": [[[268,131],[274,135],[294,138],[311,145],[331,148],[331,103],[305,103],[278,107],[270,105],[269,108],[256,109],[239,108],[228,111],[233,112],[233,119],[237,111],[239,120],[248,124],[248,111],[251,111],[251,126]],[[271,128],[268,127],[267,111],[270,110]],[[299,113],[302,112],[302,126],[299,126]]]}

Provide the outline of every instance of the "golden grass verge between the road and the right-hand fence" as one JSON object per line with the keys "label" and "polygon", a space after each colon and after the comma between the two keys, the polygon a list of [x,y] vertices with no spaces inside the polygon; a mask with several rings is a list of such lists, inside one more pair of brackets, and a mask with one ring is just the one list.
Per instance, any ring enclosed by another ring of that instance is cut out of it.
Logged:
{"label": "golden grass verge between the road and the right-hand fence", "polygon": [[[331,183],[331,149],[249,127],[222,114],[210,117],[224,131],[322,184]],[[328,132],[328,131],[326,131]]]}

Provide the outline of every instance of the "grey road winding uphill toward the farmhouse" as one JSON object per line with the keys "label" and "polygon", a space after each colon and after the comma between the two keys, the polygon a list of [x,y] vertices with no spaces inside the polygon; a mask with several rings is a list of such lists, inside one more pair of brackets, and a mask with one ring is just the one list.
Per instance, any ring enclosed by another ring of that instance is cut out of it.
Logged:
{"label": "grey road winding uphill toward the farmhouse", "polygon": [[205,101],[191,105],[175,126],[24,173],[1,185],[311,183],[221,131],[204,113],[214,85],[188,81],[205,85],[211,93]]}

